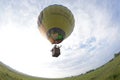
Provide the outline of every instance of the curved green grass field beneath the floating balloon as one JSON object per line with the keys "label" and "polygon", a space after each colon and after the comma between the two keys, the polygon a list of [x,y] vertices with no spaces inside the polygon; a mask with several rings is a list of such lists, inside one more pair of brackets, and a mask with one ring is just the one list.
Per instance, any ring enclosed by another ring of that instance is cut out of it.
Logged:
{"label": "curved green grass field beneath the floating balloon", "polygon": [[[15,72],[3,63],[0,63],[0,80],[53,80],[47,78],[37,78]],[[106,63],[105,65],[91,70],[79,76],[61,78],[55,80],[120,80],[120,55]]]}

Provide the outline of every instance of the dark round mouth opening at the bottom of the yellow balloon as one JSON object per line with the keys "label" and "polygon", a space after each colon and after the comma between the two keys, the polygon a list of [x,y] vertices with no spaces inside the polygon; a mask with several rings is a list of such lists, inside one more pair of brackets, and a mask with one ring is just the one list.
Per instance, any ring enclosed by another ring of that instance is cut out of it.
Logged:
{"label": "dark round mouth opening at the bottom of the yellow balloon", "polygon": [[51,28],[47,31],[47,38],[52,44],[59,44],[65,38],[65,32],[60,28]]}

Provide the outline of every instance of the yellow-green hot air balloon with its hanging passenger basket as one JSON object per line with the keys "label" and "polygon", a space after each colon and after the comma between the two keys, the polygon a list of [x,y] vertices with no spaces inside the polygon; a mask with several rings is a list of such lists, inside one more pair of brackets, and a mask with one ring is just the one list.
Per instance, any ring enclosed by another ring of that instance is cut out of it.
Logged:
{"label": "yellow-green hot air balloon with its hanging passenger basket", "polygon": [[[54,4],[41,11],[38,16],[38,28],[51,44],[55,44],[52,49],[53,57],[60,55],[60,51],[57,50],[60,47],[56,44],[70,36],[74,29],[74,22],[72,12],[65,6]],[[58,55],[55,55],[56,52]]]}

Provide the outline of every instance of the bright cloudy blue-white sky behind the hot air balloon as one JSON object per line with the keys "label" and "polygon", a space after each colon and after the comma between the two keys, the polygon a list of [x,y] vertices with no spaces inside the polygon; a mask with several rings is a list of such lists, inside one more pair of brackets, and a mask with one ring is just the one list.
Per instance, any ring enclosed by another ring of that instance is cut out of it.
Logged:
{"label": "bright cloudy blue-white sky behind the hot air balloon", "polygon": [[[53,4],[66,6],[75,18],[58,58],[37,25],[40,12]],[[0,62],[36,77],[85,73],[120,51],[119,21],[120,0],[0,0]]]}

